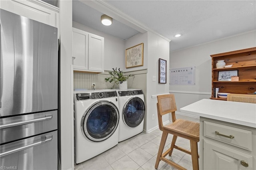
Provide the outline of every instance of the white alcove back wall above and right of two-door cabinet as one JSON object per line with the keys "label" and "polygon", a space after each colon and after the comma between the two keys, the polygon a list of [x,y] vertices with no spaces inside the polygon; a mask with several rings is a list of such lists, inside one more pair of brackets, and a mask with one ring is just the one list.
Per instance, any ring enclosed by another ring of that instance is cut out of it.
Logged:
{"label": "white alcove back wall above and right of two-door cabinet", "polygon": [[111,71],[112,68],[116,67],[124,70],[124,40],[94,30],[77,22],[73,22],[73,27],[104,37],[104,70]]}

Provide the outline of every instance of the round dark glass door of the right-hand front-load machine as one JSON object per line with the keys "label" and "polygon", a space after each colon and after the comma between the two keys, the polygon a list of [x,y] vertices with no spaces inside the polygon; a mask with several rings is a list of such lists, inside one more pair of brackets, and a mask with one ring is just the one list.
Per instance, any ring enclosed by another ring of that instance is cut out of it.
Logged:
{"label": "round dark glass door of the right-hand front-load machine", "polygon": [[128,127],[136,127],[144,119],[145,104],[139,97],[129,99],[124,105],[123,121]]}

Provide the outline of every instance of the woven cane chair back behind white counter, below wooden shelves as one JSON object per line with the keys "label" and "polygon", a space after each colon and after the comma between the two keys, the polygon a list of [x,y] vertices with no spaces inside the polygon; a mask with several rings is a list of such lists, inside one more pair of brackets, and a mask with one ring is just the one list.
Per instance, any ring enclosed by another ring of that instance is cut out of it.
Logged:
{"label": "woven cane chair back behind white counter, below wooden shelves", "polygon": [[234,94],[229,93],[227,101],[237,101],[244,103],[256,103],[256,95],[247,95],[247,94]]}

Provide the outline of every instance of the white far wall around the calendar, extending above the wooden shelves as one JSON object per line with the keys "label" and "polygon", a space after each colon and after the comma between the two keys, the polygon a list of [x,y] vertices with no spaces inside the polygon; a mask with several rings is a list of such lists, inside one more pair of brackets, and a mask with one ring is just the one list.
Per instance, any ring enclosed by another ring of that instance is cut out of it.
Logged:
{"label": "white far wall around the calendar, extending above the wooden shelves", "polygon": [[[170,42],[172,45],[172,42]],[[200,99],[209,99],[212,88],[212,60],[210,55],[256,46],[256,30],[222,38],[170,53],[170,68],[196,66],[196,85],[170,85],[178,112],[181,107]]]}

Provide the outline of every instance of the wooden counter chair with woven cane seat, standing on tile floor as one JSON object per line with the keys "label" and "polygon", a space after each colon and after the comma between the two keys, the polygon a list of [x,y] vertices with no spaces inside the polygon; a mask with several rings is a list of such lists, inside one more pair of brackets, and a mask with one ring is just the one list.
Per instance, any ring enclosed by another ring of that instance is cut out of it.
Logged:
{"label": "wooden counter chair with woven cane seat, standing on tile floor", "polygon": [[[159,150],[156,158],[155,168],[156,169],[158,168],[159,162],[160,160],[162,160],[179,170],[186,170],[182,166],[165,158],[167,154],[171,156],[172,151],[175,148],[175,149],[181,150],[182,152],[190,154],[192,156],[193,170],[198,170],[199,155],[198,155],[197,142],[199,142],[199,123],[186,121],[182,119],[176,120],[175,111],[177,110],[177,108],[176,108],[174,95],[172,94],[158,95],[157,101],[158,103],[156,105],[157,105],[157,113],[158,113],[158,124],[159,124],[160,130],[162,130],[163,133],[162,133],[162,138],[161,138],[161,142],[160,142],[160,146],[159,146]],[[172,124],[164,126],[162,122],[162,116],[167,113],[172,113]],[[170,148],[163,153],[164,145],[166,143],[168,134],[173,134],[172,143]],[[190,140],[191,152],[189,150],[186,150],[185,148],[175,145],[175,142],[178,136]]]}

